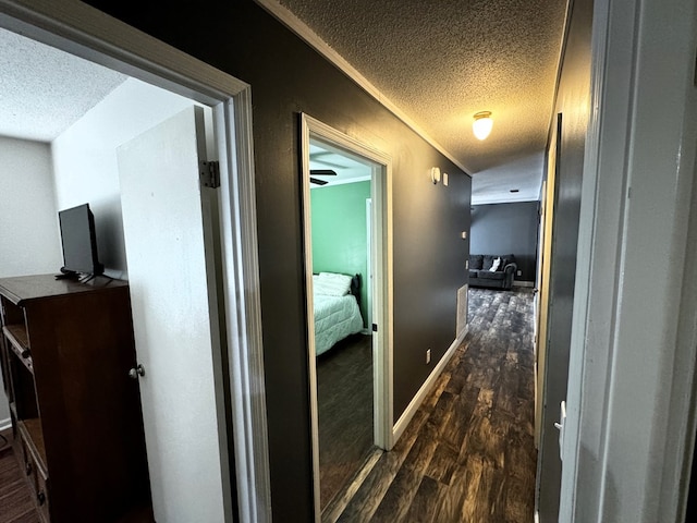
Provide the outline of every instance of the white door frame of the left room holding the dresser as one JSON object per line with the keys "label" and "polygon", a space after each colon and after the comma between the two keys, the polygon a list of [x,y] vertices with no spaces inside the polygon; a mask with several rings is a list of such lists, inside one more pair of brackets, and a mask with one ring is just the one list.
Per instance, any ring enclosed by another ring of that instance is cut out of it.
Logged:
{"label": "white door frame of the left room holding the dresser", "polygon": [[[220,452],[234,451],[241,521],[271,521],[249,85],[81,2],[0,0],[0,27],[212,108],[232,405],[216,396],[232,410],[234,438],[228,449],[219,424]],[[223,492],[227,504],[231,495]]]}

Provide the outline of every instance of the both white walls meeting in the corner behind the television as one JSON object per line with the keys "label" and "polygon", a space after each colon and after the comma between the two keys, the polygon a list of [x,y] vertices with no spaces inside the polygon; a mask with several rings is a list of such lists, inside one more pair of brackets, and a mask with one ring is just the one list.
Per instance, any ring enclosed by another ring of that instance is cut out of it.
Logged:
{"label": "both white walls meeting in the corner behind the television", "polygon": [[[0,278],[58,272],[58,210],[84,203],[95,215],[100,262],[126,278],[117,147],[192,104],[129,78],[50,145],[0,137]],[[208,108],[205,114],[210,127]],[[0,392],[0,429],[9,424]]]}

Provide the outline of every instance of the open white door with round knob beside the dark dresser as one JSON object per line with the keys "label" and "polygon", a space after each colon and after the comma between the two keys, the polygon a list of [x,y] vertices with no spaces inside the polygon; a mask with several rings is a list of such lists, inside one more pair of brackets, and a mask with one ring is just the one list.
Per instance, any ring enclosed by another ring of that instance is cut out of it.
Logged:
{"label": "open white door with round knob beside the dark dresser", "polygon": [[228,504],[213,375],[220,331],[204,234],[209,190],[198,175],[203,122],[201,109],[191,107],[118,149],[145,440],[161,523],[222,522]]}

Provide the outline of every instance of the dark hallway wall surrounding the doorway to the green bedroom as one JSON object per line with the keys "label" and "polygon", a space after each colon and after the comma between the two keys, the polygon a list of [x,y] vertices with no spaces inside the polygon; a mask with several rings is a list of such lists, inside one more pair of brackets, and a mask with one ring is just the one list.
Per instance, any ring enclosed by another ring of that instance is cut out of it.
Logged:
{"label": "dark hallway wall surrounding the doorway to the green bedroom", "polygon": [[470,178],[252,0],[87,3],[252,85],[272,510],[313,521],[299,114],[393,160],[395,421],[455,339]]}

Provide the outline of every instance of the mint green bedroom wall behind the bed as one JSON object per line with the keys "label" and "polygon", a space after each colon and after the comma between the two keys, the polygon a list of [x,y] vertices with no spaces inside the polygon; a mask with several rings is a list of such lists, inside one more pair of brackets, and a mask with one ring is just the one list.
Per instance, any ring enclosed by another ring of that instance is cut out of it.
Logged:
{"label": "mint green bedroom wall behind the bed", "polygon": [[366,199],[370,182],[315,187],[310,191],[313,272],[360,275],[359,308],[368,326]]}

